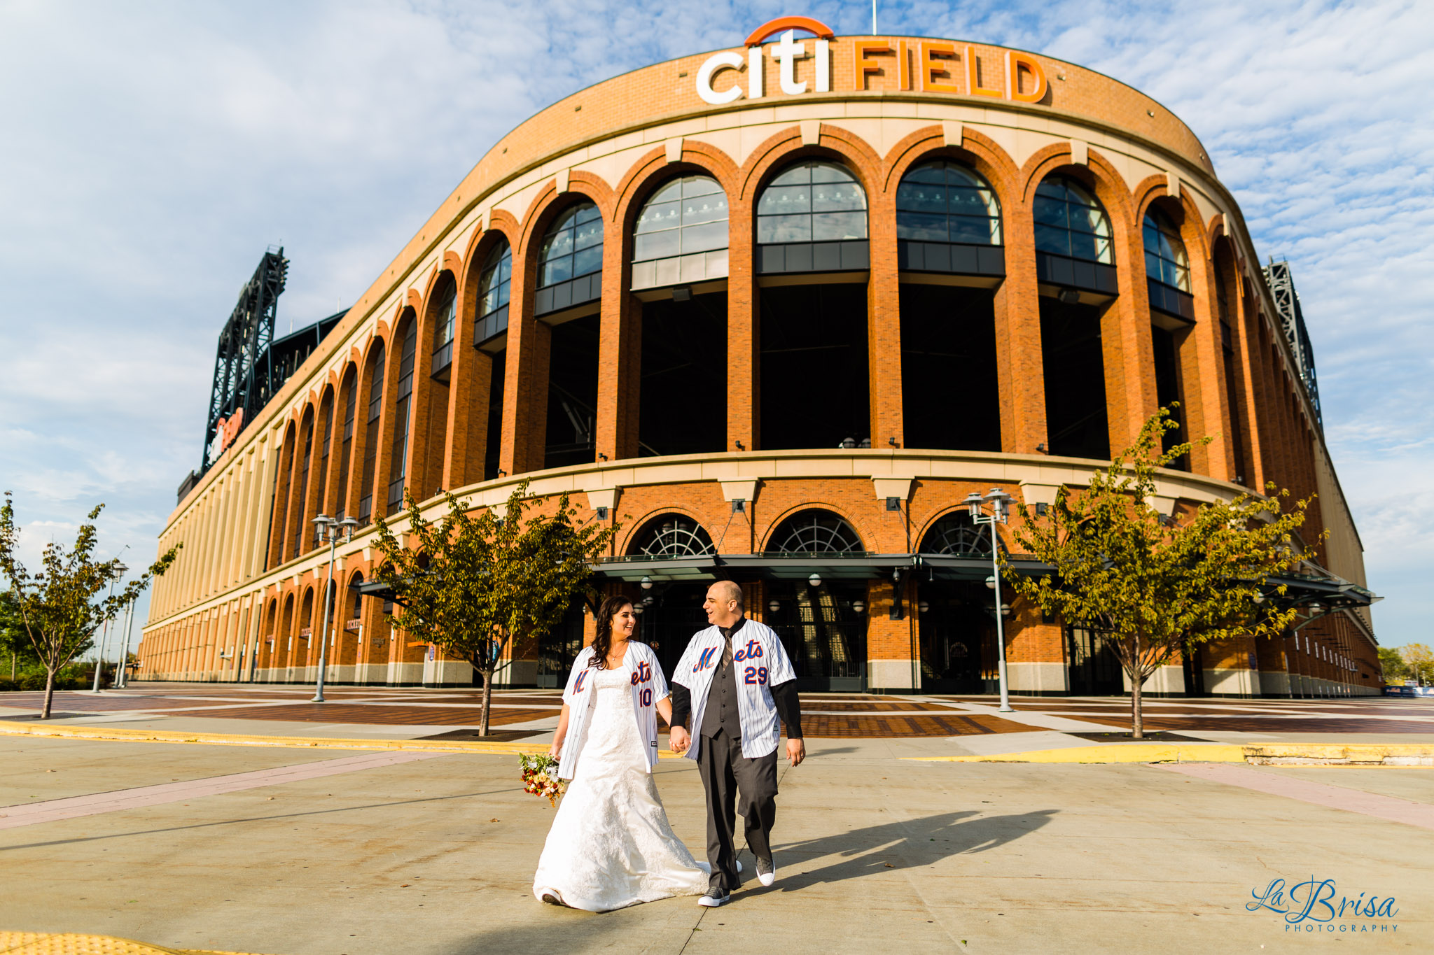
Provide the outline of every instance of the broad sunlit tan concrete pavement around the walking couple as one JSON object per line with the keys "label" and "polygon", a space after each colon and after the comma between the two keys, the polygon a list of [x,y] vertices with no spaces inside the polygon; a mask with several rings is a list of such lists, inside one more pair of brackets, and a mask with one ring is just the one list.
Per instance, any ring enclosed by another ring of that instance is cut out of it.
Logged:
{"label": "broad sunlit tan concrete pavement around the walking couple", "polygon": [[[1154,766],[911,762],[951,743],[809,743],[809,762],[783,769],[776,886],[750,883],[721,909],[684,898],[588,915],[531,898],[554,810],[522,792],[512,756],[315,775],[354,755],[0,737],[0,805],[178,782],[192,793],[0,832],[0,928],[270,955],[1292,951],[1314,944],[1311,924],[1248,906],[1273,879],[1315,876],[1397,899],[1397,918],[1342,919],[1365,932],[1341,941],[1428,939],[1434,883],[1411,852],[1428,830],[1412,825]],[[264,777],[277,769],[293,772]],[[1351,803],[1427,806],[1434,792],[1434,769],[1242,769]],[[237,773],[258,776],[204,795]],[[700,850],[694,765],[664,760],[657,782]]]}

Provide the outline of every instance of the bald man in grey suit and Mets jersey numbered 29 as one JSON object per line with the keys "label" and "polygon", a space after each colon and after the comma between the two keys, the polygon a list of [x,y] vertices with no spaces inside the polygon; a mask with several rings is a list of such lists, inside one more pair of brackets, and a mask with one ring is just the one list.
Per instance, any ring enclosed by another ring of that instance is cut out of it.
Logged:
{"label": "bald man in grey suit and Mets jersey numbered 29", "polygon": [[[787,727],[787,759],[806,759],[796,673],[782,640],[766,624],[743,616],[741,587],[718,580],[703,601],[713,626],[687,644],[673,673],[674,753],[697,760],[707,790],[707,859],[711,878],[698,905],[731,898],[737,879],[734,810],[747,823],[747,846],[757,856],[757,879],[771,885],[771,823],[777,818],[777,717]],[[683,723],[688,712],[693,735]],[[740,805],[737,803],[740,795]]]}

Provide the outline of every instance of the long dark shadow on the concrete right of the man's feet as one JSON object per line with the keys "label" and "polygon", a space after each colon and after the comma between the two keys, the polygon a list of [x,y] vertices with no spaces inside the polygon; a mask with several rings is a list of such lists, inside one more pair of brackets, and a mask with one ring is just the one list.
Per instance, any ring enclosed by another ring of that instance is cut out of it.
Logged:
{"label": "long dark shadow on the concrete right of the man's feet", "polygon": [[782,856],[793,852],[816,858],[835,855],[842,856],[842,861],[810,872],[782,875],[770,889],[761,889],[754,882],[750,888],[757,892],[796,892],[823,882],[859,879],[888,869],[928,866],[954,855],[987,852],[1035,832],[1057,812],[1060,810],[1038,809],[1011,816],[982,816],[974,810],[946,812],[787,842],[774,849],[779,868],[783,865]]}

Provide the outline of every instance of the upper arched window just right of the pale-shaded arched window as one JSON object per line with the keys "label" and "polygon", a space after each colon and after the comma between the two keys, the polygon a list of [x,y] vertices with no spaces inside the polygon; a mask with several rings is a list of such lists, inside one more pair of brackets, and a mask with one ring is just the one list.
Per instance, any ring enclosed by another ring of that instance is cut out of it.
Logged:
{"label": "upper arched window just right of the pale-shaded arched window", "polygon": [[866,192],[836,163],[787,166],[757,198],[757,245],[759,272],[870,268]]}

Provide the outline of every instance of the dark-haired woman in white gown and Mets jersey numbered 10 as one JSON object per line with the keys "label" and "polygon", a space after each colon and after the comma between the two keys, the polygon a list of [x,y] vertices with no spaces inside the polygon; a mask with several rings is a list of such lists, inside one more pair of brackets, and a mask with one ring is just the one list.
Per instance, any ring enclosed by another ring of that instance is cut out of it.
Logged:
{"label": "dark-haired woman in white gown and Mets jersey numbered 10", "polygon": [[630,640],[635,623],[631,600],[604,600],[562,692],[551,753],[571,782],[533,875],[543,902],[607,912],[707,891],[652,782],[657,713],[671,723],[673,702],[657,654]]}

